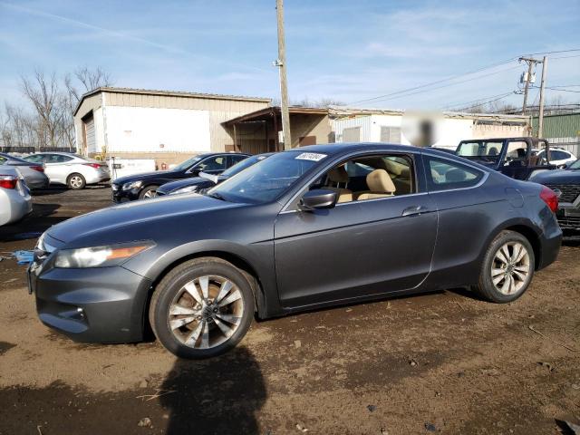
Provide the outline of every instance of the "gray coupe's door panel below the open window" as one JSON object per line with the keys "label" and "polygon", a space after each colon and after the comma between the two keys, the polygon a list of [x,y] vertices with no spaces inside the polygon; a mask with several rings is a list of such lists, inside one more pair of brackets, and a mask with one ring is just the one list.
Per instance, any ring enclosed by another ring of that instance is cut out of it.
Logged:
{"label": "gray coupe's door panel below the open window", "polygon": [[275,222],[281,304],[321,304],[416,287],[430,272],[436,235],[437,213],[420,190],[329,209],[285,209]]}

